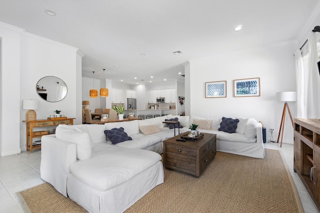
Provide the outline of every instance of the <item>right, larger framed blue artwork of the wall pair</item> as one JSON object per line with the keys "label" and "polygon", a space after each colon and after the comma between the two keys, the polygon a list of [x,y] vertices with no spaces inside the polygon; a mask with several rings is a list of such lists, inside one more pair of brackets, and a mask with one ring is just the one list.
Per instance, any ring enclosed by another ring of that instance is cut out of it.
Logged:
{"label": "right, larger framed blue artwork of the wall pair", "polygon": [[260,96],[260,78],[233,80],[234,97]]}

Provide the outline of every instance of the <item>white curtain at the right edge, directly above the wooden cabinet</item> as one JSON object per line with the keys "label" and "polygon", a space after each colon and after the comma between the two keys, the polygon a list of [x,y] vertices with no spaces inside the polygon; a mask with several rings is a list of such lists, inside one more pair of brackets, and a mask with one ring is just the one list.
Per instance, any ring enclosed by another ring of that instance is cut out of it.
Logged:
{"label": "white curtain at the right edge, directly above the wooden cabinet", "polygon": [[[317,32],[316,32],[317,33]],[[320,115],[320,75],[317,67],[317,35],[310,32],[307,36],[309,49],[308,80],[306,93],[306,117],[319,118]]]}

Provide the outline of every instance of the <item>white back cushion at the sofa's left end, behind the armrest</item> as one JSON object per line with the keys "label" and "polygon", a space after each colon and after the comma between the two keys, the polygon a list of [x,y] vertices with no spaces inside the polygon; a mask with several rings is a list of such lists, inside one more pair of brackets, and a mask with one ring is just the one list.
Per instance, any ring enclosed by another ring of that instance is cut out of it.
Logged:
{"label": "white back cushion at the sofa's left end, behind the armrest", "polygon": [[91,158],[91,139],[87,133],[57,126],[55,129],[55,137],[74,143],[76,146],[77,159],[85,160]]}

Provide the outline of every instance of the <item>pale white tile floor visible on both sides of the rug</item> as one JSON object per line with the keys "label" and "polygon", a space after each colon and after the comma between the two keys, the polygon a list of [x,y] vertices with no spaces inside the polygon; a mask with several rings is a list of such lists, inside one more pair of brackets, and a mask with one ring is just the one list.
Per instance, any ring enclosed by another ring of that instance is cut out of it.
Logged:
{"label": "pale white tile floor visible on both sides of the rug", "polygon": [[[267,149],[277,149],[290,170],[305,213],[319,213],[301,181],[293,172],[293,145],[266,143]],[[0,213],[29,213],[18,192],[44,183],[40,178],[40,150],[0,157]],[[274,162],[276,163],[276,162]]]}

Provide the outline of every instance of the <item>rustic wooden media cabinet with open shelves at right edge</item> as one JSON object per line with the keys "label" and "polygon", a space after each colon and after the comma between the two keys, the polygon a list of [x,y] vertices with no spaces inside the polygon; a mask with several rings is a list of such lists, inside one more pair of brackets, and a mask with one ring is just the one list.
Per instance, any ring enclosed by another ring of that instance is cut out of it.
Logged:
{"label": "rustic wooden media cabinet with open shelves at right edge", "polygon": [[320,210],[320,120],[294,119],[293,168]]}

